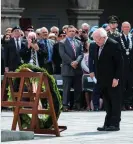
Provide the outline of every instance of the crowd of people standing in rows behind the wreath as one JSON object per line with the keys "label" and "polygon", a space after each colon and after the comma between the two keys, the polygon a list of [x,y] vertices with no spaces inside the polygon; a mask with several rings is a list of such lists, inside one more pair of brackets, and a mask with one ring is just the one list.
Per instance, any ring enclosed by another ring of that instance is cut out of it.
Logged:
{"label": "crowd of people standing in rows behind the wreath", "polygon": [[[30,63],[45,68],[51,75],[62,75],[63,111],[99,111],[103,109],[103,103],[110,109],[110,101],[115,101],[116,109],[121,101],[122,110],[132,110],[133,29],[129,22],[123,22],[119,30],[118,23],[116,16],[110,16],[101,27],[83,23],[79,29],[64,25],[62,29],[53,26],[50,31],[46,27],[35,30],[33,26],[24,30],[19,26],[7,28],[1,36],[1,74]],[[108,38],[111,39],[108,42],[110,48],[104,50]],[[116,44],[110,44],[115,42]],[[103,58],[104,53],[106,56]],[[114,71],[117,71],[116,75]],[[84,74],[89,74],[92,79],[96,78],[93,92],[82,93]],[[107,91],[105,89],[108,88],[104,87],[104,92],[101,93],[100,86],[107,86],[111,79],[112,87],[121,83],[120,101],[119,92],[115,93],[113,99],[108,97],[108,100],[103,95],[109,95],[110,90]],[[74,88],[74,94],[70,91],[71,87]],[[82,106],[81,97],[85,99]]]}

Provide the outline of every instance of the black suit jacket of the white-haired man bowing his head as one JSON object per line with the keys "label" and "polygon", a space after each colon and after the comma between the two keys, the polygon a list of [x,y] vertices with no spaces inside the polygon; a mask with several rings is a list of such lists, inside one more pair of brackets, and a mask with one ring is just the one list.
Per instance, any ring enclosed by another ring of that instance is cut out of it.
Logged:
{"label": "black suit jacket of the white-haired man bowing his head", "polygon": [[119,79],[119,82],[121,82],[123,75],[123,58],[119,43],[108,38],[99,59],[99,47],[96,44],[95,47],[97,49],[95,49],[94,61],[99,86],[112,86],[114,78]]}

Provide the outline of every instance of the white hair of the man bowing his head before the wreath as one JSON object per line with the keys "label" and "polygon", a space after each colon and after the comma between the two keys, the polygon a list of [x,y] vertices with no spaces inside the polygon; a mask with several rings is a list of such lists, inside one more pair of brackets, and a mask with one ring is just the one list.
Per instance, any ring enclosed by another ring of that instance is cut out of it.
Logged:
{"label": "white hair of the man bowing his head before the wreath", "polygon": [[107,32],[104,28],[98,28],[97,30],[95,30],[92,34],[92,36],[94,37],[95,35],[98,35],[100,37],[107,37]]}

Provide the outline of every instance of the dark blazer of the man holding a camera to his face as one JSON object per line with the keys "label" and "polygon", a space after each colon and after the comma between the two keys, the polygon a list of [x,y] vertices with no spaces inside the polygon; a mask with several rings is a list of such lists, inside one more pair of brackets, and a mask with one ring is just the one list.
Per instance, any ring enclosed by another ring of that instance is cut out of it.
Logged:
{"label": "dark blazer of the man holding a camera to his face", "polygon": [[[22,57],[22,60],[24,63],[29,63],[31,59],[31,49],[28,48],[28,43],[27,41],[25,43],[22,43],[21,45],[21,50],[20,50],[20,56]],[[39,47],[39,50],[37,51],[37,58],[38,58],[38,63],[40,67],[44,66],[44,54],[45,51],[42,47]]]}

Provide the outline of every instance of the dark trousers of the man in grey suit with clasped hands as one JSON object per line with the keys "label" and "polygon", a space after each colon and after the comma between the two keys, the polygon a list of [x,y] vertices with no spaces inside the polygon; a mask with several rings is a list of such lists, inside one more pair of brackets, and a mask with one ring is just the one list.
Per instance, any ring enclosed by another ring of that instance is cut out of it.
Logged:
{"label": "dark trousers of the man in grey suit with clasped hands", "polygon": [[82,76],[63,76],[63,105],[68,106],[70,90],[74,88],[74,103],[80,103],[82,92]]}

